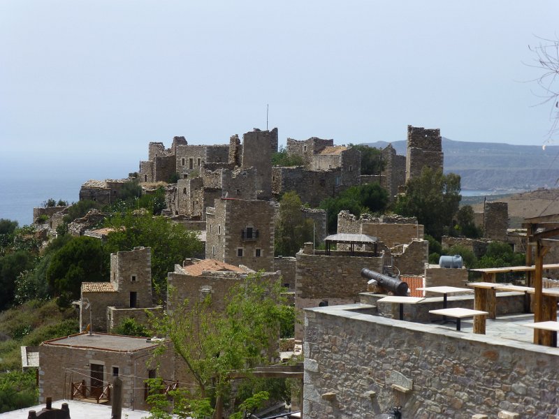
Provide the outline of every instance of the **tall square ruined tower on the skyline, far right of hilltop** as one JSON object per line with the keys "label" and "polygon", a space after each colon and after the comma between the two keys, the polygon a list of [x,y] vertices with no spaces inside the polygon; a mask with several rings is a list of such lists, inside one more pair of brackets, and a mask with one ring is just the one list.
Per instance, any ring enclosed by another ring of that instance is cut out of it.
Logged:
{"label": "tall square ruined tower on the skyline, far right of hilltop", "polygon": [[407,126],[406,181],[421,175],[424,166],[442,170],[442,138],[439,128]]}

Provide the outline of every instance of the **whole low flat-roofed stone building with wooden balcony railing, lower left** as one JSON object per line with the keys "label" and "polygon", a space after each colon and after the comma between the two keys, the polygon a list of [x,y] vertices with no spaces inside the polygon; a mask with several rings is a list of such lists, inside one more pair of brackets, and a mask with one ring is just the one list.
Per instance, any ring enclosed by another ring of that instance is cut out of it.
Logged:
{"label": "whole low flat-roofed stone building with wooden balcony railing, lower left", "polygon": [[145,378],[161,377],[174,381],[170,351],[156,355],[159,342],[145,337],[128,337],[87,332],[44,341],[39,346],[39,402],[46,396],[70,399],[80,385],[78,395],[92,399],[115,376],[122,379],[122,406],[147,410]]}

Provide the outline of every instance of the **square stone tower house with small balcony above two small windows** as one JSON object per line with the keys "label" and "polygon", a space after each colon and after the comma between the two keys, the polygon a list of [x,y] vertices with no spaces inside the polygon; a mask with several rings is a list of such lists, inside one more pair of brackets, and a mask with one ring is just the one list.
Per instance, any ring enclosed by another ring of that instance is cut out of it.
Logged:
{"label": "square stone tower house with small balcony above two small windows", "polygon": [[264,200],[221,198],[206,208],[206,258],[273,270],[274,207]]}

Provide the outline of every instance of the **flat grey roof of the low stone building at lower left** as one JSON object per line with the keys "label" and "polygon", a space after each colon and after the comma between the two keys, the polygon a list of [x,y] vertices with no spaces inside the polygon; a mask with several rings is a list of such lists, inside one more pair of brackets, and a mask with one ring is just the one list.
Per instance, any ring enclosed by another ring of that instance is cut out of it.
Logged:
{"label": "flat grey roof of the low stone building at lower left", "polygon": [[108,333],[78,333],[57,339],[44,341],[43,346],[61,346],[66,348],[99,349],[101,351],[131,352],[155,348],[157,341],[148,341],[145,337],[109,335]]}

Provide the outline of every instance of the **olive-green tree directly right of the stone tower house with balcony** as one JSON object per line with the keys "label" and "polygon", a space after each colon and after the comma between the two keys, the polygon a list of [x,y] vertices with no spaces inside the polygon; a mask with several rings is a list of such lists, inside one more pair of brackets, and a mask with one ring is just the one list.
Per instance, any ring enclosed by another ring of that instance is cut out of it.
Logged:
{"label": "olive-green tree directly right of the stone tower house with balcony", "polygon": [[301,199],[294,191],[284,193],[279,201],[279,217],[275,228],[275,254],[295,256],[305,242],[312,242],[314,225],[301,212]]}

